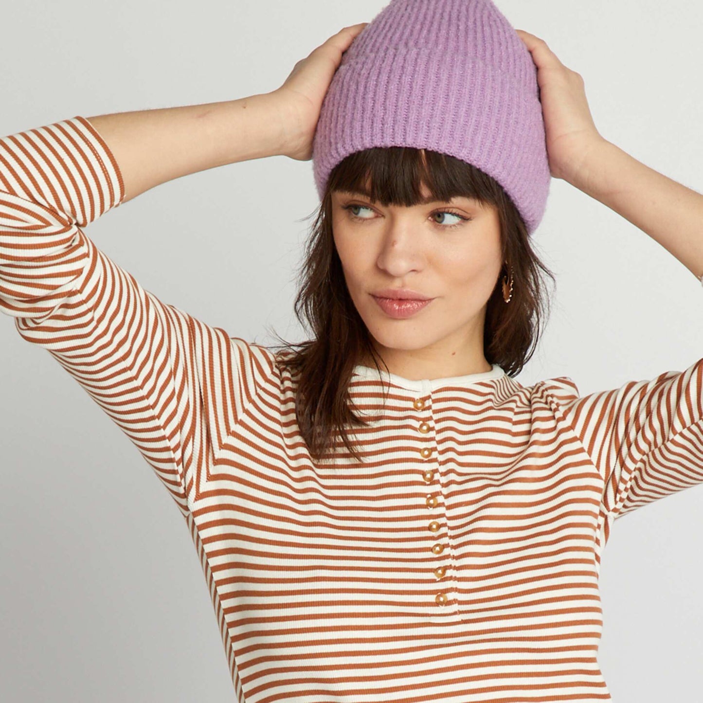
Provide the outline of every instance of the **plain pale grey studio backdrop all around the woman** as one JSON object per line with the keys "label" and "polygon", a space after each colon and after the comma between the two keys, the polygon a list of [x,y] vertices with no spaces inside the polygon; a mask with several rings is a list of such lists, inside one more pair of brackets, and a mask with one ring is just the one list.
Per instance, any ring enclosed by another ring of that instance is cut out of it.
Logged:
{"label": "plain pale grey studio backdrop all around the woman", "polygon": [[[581,73],[602,136],[703,191],[702,6],[496,4]],[[0,134],[274,90],[297,60],[384,5],[5,4]],[[87,233],[162,301],[273,344],[267,327],[302,339],[294,269],[303,218],[317,205],[311,162],[273,157],[165,183]],[[703,356],[700,283],[617,213],[554,179],[534,240],[557,288],[522,385],[568,375],[587,394]],[[172,498],[77,382],[11,318],[0,323],[0,698],[232,701],[207,586]],[[599,660],[617,703],[699,696],[702,532],[699,487],[615,523]]]}

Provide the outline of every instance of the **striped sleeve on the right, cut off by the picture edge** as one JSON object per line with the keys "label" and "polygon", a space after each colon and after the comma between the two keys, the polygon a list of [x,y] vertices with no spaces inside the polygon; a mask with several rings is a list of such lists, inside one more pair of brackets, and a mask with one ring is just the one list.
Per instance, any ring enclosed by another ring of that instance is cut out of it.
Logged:
{"label": "striped sleeve on the right, cut off by the picture edge", "polygon": [[612,519],[703,483],[703,359],[583,397],[570,378],[555,381],[560,410],[602,476],[601,508]]}

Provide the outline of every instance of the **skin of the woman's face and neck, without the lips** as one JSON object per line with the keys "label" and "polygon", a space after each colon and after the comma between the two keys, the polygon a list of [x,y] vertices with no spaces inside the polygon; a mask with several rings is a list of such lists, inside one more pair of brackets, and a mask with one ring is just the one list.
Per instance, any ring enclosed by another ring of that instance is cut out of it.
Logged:
{"label": "skin of the woman's face and neck, without the lips", "polygon": [[[423,186],[423,198],[429,195]],[[332,213],[349,294],[392,373],[441,378],[490,370],[483,353],[486,302],[503,264],[496,207],[468,198],[382,207],[333,191]],[[374,298],[388,288],[432,301],[395,318]]]}

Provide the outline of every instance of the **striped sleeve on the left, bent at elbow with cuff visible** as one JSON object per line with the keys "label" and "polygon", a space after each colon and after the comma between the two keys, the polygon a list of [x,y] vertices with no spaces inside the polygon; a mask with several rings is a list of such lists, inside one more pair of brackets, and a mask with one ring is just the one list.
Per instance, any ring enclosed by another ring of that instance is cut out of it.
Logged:
{"label": "striped sleeve on the left, bent at elbow with cuff visible", "polygon": [[0,139],[0,311],[110,415],[187,515],[271,354],[161,302],[85,236],[123,198],[84,117]]}

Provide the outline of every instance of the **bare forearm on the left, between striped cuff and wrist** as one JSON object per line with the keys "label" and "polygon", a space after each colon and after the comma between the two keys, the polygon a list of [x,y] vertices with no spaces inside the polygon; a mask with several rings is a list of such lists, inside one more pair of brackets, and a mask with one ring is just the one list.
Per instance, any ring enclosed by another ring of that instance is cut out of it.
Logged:
{"label": "bare forearm on the left, between striped cuff and wrist", "polygon": [[86,117],[122,172],[122,202],[180,176],[284,153],[285,119],[272,93],[178,108]]}

